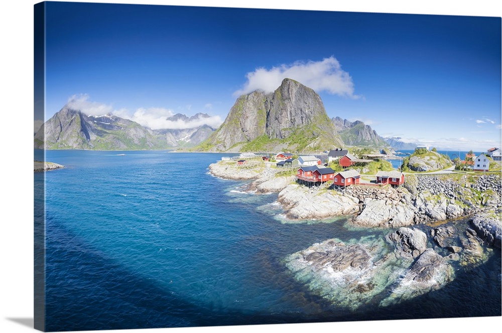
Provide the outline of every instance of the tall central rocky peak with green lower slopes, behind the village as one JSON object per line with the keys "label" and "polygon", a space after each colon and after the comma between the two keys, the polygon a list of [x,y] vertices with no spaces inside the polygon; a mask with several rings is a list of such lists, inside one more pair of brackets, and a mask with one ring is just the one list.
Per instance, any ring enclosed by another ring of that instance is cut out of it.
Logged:
{"label": "tall central rocky peak with green lower slopes, behind the village", "polygon": [[271,93],[237,98],[223,124],[199,151],[317,151],[343,147],[319,95],[292,79]]}

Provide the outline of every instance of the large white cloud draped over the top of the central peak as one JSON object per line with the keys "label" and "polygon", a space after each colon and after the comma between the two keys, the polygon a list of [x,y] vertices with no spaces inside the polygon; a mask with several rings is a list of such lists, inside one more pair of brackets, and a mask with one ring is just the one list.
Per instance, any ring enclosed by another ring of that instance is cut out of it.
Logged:
{"label": "large white cloud draped over the top of the central peak", "polygon": [[234,96],[250,93],[255,90],[272,92],[277,89],[283,79],[290,78],[314,89],[316,92],[326,91],[330,94],[351,98],[354,95],[354,84],[349,73],[341,69],[341,65],[333,56],[322,61],[297,61],[291,65],[280,65],[268,70],[257,68],[246,74],[247,82]]}

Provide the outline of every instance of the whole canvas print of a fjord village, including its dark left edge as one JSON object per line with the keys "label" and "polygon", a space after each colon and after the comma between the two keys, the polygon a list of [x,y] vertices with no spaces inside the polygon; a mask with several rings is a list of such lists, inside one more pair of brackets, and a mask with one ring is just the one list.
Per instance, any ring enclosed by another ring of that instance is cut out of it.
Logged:
{"label": "whole canvas print of a fjord village, including its dark left edge", "polygon": [[500,17],[34,27],[36,329],[501,315]]}

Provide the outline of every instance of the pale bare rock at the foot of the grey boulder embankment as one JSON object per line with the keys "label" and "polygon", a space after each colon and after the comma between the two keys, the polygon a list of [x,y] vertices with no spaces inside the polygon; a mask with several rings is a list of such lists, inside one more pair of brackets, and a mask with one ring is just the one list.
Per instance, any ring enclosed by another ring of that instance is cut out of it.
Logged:
{"label": "pale bare rock at the foot of the grey boulder embankment", "polygon": [[405,204],[391,204],[387,200],[366,198],[359,215],[352,223],[362,227],[398,228],[413,224],[414,212]]}

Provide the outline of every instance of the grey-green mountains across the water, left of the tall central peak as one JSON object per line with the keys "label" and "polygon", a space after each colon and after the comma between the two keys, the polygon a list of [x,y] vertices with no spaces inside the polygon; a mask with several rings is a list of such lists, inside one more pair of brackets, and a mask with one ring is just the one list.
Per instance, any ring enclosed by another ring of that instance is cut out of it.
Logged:
{"label": "grey-green mountains across the water, left of the tall central peak", "polygon": [[[177,114],[171,121],[189,122],[207,118]],[[63,107],[35,134],[37,149],[150,150],[193,147],[206,140],[214,129],[207,125],[180,130],[151,130],[140,124],[113,116],[87,116]]]}

